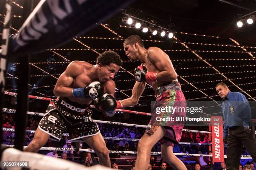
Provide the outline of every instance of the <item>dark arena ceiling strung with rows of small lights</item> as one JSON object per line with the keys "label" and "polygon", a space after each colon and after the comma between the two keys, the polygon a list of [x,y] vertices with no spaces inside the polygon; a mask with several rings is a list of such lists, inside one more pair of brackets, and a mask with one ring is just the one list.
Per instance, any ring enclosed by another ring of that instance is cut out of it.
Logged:
{"label": "dark arena ceiling strung with rows of small lights", "polygon": [[[15,34],[24,18],[21,0],[13,2],[13,15],[21,16],[13,17],[11,33]],[[37,3],[38,0],[35,0],[34,5]],[[101,52],[114,50],[124,61],[123,67],[115,76],[118,89],[116,98],[121,100],[131,96],[135,83],[131,73],[140,62],[131,62],[125,56],[123,39],[137,34],[145,40],[146,48],[160,47],[169,55],[187,100],[220,100],[215,85],[225,82],[231,91],[242,92],[248,100],[255,101],[256,27],[255,24],[239,29],[236,27],[239,15],[254,10],[256,1],[253,0],[134,1],[81,37],[73,37],[66,45],[31,56],[29,94],[54,97],[56,80],[69,62],[82,60],[95,64],[96,57]],[[174,31],[175,37],[170,40],[167,37],[151,36],[150,32],[143,33],[135,28],[124,27],[127,25],[121,21],[123,13],[154,21],[157,25]],[[3,24],[2,15],[1,23]],[[15,92],[17,89],[16,64],[9,65],[5,87],[7,91]],[[130,109],[150,112],[150,104],[154,100],[154,91],[147,85],[139,105]]]}

